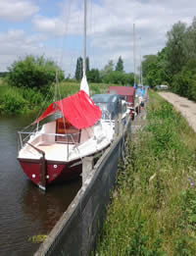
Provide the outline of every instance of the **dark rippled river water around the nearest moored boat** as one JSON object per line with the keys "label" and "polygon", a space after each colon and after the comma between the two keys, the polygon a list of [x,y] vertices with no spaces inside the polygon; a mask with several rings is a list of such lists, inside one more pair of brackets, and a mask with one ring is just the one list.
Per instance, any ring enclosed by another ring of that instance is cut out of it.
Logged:
{"label": "dark rippled river water around the nearest moored boat", "polygon": [[0,255],[28,256],[39,247],[29,237],[47,234],[68,208],[81,180],[55,184],[42,192],[17,161],[17,131],[32,117],[0,118]]}

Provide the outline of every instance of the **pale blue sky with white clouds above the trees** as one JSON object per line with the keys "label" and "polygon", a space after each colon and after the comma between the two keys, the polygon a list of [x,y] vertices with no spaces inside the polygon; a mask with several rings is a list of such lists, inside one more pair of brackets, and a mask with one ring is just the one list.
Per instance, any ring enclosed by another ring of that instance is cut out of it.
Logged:
{"label": "pale blue sky with white clouds above the trees", "polygon": [[[90,68],[101,70],[122,56],[124,71],[133,72],[133,24],[138,66],[142,56],[165,47],[173,24],[189,26],[195,10],[195,0],[87,0]],[[0,72],[32,54],[73,77],[82,34],[83,0],[0,0]]]}

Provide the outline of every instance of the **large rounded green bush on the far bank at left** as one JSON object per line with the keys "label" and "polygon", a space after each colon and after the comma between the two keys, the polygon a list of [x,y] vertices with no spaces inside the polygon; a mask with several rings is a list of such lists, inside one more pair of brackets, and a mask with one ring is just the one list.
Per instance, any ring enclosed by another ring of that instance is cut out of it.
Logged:
{"label": "large rounded green bush on the far bank at left", "polygon": [[36,88],[41,91],[55,81],[56,75],[60,81],[64,79],[63,71],[54,61],[45,59],[43,56],[28,55],[24,60],[14,62],[8,70],[7,79],[11,85]]}

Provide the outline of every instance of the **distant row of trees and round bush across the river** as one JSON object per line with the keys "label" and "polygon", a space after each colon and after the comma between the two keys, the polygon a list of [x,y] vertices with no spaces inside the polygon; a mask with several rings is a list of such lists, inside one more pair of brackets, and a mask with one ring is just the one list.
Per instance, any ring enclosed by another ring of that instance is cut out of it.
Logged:
{"label": "distant row of trees and round bush across the river", "polygon": [[[1,74],[0,74],[1,75]],[[78,57],[74,77],[70,75],[65,78],[64,72],[58,67],[53,60],[44,56],[35,57],[27,55],[25,59],[15,61],[9,68],[7,73],[3,73],[2,77],[6,77],[10,85],[16,87],[26,87],[38,89],[45,92],[48,85],[55,80],[73,80],[80,81],[83,76],[83,60]],[[133,73],[125,73],[123,70],[123,58],[120,56],[115,66],[113,60],[105,65],[103,70],[90,69],[89,58],[86,58],[86,77],[89,82],[95,83],[115,83],[123,85],[133,85]]]}

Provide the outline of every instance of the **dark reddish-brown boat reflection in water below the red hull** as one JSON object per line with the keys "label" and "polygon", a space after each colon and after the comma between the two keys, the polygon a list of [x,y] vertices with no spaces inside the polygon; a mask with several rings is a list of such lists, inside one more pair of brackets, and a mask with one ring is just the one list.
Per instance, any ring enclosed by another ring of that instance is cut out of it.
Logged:
{"label": "dark reddish-brown boat reflection in water below the red hull", "polygon": [[26,182],[23,194],[25,216],[32,222],[39,222],[39,230],[43,233],[48,232],[68,208],[80,186],[81,179],[76,179],[51,185],[45,193],[30,181]]}

